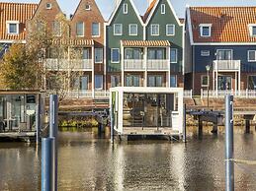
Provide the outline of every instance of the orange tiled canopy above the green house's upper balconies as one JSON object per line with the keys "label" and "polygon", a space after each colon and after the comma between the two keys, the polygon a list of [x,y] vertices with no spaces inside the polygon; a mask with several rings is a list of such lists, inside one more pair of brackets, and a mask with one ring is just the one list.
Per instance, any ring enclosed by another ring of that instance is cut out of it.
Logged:
{"label": "orange tiled canopy above the green house's upper balconies", "polygon": [[168,40],[122,40],[125,47],[168,47]]}

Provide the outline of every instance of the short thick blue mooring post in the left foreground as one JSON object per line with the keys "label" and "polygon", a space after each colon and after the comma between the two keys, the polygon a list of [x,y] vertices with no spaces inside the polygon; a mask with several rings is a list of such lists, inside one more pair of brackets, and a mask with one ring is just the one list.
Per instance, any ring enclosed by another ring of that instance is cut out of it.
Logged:
{"label": "short thick blue mooring post in the left foreground", "polygon": [[54,138],[42,139],[42,191],[54,190],[53,183],[53,145]]}

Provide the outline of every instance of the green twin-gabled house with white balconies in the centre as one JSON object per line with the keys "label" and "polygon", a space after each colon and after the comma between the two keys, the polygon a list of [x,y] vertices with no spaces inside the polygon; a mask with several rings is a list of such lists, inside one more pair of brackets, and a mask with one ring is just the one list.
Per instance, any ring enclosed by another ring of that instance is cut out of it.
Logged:
{"label": "green twin-gabled house with white balconies in the centre", "polygon": [[183,87],[183,24],[169,0],[149,1],[139,16],[118,1],[106,25],[107,88]]}

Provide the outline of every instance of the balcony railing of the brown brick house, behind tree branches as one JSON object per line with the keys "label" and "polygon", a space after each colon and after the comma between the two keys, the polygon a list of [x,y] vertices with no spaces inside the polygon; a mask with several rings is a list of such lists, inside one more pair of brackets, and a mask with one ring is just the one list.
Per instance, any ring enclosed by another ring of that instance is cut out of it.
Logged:
{"label": "balcony railing of the brown brick house, behind tree branches", "polygon": [[91,59],[67,60],[49,58],[45,60],[45,68],[53,71],[90,71],[93,68],[93,64]]}

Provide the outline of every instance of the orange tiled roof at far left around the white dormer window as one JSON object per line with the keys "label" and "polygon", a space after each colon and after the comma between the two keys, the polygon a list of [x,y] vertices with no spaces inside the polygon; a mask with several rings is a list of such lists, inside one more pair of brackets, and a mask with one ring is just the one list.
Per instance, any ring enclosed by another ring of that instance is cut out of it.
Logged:
{"label": "orange tiled roof at far left around the white dormer window", "polygon": [[[24,40],[26,21],[31,19],[38,4],[0,2],[0,40]],[[7,21],[18,21],[19,34],[8,34]]]}

